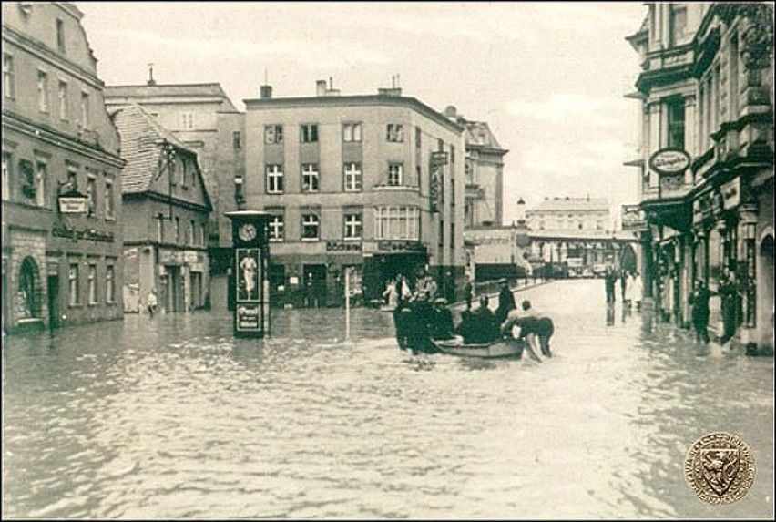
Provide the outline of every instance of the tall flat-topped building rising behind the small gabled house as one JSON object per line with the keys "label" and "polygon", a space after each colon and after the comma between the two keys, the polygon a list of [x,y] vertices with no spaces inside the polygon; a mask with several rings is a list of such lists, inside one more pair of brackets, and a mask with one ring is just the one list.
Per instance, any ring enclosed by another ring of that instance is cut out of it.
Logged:
{"label": "tall flat-topped building rising behind the small gabled house", "polygon": [[214,309],[226,308],[226,272],[231,259],[231,223],[224,215],[241,208],[238,182],[245,171],[244,117],[218,83],[107,86],[108,108],[138,103],[187,148],[195,150],[213,211],[209,256]]}

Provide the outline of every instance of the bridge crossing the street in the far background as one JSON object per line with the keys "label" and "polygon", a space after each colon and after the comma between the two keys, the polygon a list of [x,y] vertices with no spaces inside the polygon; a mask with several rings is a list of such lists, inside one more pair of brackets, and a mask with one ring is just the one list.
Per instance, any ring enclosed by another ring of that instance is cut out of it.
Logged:
{"label": "bridge crossing the street in the far background", "polygon": [[544,267],[551,277],[575,277],[606,266],[640,272],[639,238],[631,230],[527,230],[524,244],[534,270]]}

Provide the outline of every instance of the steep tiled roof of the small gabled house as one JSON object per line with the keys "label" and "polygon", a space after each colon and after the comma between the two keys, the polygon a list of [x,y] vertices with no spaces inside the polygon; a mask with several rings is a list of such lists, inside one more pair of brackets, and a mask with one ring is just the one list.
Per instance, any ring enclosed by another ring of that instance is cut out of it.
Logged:
{"label": "steep tiled roof of the small gabled house", "polygon": [[121,138],[121,157],[127,160],[121,174],[121,189],[125,194],[150,189],[158,173],[163,141],[197,154],[136,103],[117,107],[113,120]]}

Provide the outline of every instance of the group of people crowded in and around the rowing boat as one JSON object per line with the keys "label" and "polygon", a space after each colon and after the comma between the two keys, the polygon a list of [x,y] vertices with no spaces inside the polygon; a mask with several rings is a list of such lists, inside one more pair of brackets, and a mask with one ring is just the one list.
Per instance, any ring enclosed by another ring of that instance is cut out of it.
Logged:
{"label": "group of people crowded in and around the rowing boat", "polygon": [[407,299],[400,298],[393,310],[399,347],[413,353],[435,353],[438,350],[434,341],[456,336],[464,344],[495,343],[506,337],[527,343],[529,347],[536,346],[546,357],[551,357],[549,341],[555,332],[552,319],[537,312],[528,300],[521,302],[518,310],[508,281],[499,283],[495,311],[489,306],[488,296],[481,295],[476,306],[466,303],[458,324],[454,324],[453,312],[443,297],[434,299],[427,290],[418,290]]}

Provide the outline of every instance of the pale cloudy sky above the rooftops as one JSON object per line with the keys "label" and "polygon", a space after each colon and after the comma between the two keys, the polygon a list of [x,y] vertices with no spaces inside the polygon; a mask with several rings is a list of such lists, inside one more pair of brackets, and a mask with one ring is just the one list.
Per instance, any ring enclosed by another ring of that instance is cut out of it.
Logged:
{"label": "pale cloudy sky above the rooftops", "polygon": [[232,102],[403,96],[490,126],[505,155],[504,221],[545,197],[637,201],[642,2],[77,2],[107,85],[220,83]]}

